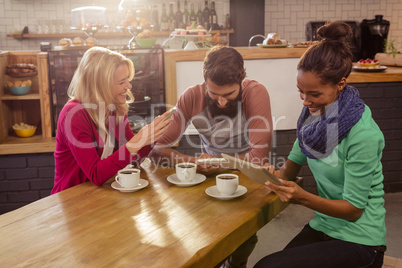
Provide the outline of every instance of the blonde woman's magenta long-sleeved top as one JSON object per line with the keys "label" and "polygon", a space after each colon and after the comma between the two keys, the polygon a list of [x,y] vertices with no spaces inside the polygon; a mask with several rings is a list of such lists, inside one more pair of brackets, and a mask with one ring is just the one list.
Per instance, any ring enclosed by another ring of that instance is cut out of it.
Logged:
{"label": "blonde woman's magenta long-sleeved top", "polygon": [[151,146],[143,147],[137,155],[132,156],[125,146],[134,136],[127,116],[120,126],[114,126],[116,124],[112,117],[109,131],[116,137],[114,153],[101,160],[104,141],[86,109],[76,100],[69,101],[63,107],[57,122],[52,194],[87,180],[100,186],[132,161],[138,165],[141,163],[151,151]]}

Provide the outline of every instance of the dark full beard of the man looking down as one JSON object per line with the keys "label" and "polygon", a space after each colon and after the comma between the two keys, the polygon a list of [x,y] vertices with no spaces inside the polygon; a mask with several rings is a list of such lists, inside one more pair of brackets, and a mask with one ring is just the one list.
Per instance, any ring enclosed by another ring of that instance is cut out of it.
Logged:
{"label": "dark full beard of the man looking down", "polygon": [[207,101],[208,111],[211,113],[212,118],[217,117],[235,117],[239,111],[241,111],[241,88],[239,94],[234,100],[228,100],[224,108],[219,107],[217,100],[212,99],[209,94],[205,95],[205,100]]}

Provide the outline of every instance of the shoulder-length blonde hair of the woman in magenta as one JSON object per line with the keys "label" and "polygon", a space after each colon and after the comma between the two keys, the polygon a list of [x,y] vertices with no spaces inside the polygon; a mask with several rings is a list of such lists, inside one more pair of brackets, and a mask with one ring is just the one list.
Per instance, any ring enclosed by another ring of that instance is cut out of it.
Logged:
{"label": "shoulder-length blonde hair of the woman in magenta", "polygon": [[[113,112],[116,118],[125,116],[128,112],[128,103],[134,101],[131,91],[128,90],[127,95],[129,96],[129,100],[124,104],[118,104],[111,90],[114,85],[114,73],[122,64],[127,65],[129,80],[131,81],[135,70],[130,59],[107,48],[90,48],[85,52],[79,63],[67,91],[70,100],[76,99],[84,107],[88,107],[86,110],[95,125],[106,133],[108,131],[105,119]],[[100,104],[105,105],[103,118],[100,116],[100,112],[102,112]],[[118,123],[118,120],[116,120],[116,123]]]}

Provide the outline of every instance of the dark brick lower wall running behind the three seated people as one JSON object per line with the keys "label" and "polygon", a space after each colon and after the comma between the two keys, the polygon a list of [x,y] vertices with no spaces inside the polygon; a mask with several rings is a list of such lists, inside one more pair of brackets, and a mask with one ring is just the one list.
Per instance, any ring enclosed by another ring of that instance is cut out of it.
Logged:
{"label": "dark brick lower wall running behind the three seated people", "polygon": [[[373,118],[385,137],[383,172],[385,192],[402,191],[402,83],[354,84],[371,108]],[[277,168],[289,154],[296,130],[276,131],[273,136],[271,163]],[[180,141],[178,150],[196,154],[198,136]],[[307,191],[316,193],[314,178],[307,166],[299,174]],[[53,153],[0,156],[0,214],[50,195],[53,187]]]}

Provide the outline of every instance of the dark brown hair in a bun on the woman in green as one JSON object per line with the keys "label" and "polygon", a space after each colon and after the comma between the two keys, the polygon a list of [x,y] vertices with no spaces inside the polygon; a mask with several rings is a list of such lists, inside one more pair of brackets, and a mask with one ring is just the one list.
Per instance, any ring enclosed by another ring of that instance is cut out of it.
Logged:
{"label": "dark brown hair in a bun on the woman in green", "polygon": [[301,57],[297,70],[317,74],[322,83],[336,85],[352,70],[352,28],[344,22],[327,23],[317,30],[321,42],[310,47]]}

